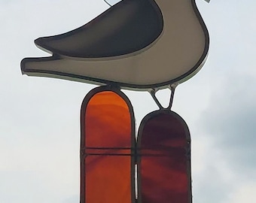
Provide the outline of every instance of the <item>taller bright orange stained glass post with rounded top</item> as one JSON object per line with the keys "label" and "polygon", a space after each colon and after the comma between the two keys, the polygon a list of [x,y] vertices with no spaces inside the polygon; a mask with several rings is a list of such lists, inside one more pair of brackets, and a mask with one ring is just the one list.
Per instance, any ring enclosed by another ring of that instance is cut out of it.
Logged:
{"label": "taller bright orange stained glass post with rounded top", "polygon": [[81,111],[81,203],[134,202],[133,110],[121,92],[93,91]]}

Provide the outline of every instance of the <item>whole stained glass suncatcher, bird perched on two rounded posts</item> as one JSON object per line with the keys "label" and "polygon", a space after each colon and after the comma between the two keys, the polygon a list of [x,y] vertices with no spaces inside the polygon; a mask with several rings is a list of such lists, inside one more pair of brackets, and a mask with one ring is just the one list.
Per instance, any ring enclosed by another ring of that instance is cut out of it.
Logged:
{"label": "whole stained glass suncatcher, bird perched on two rounded posts", "polygon": [[[190,203],[190,134],[171,108],[175,86],[206,62],[208,30],[196,0],[115,2],[78,29],[36,39],[51,56],[25,58],[21,71],[107,85],[81,108],[81,203]],[[160,108],[142,120],[137,141],[121,88],[151,92]],[[166,88],[163,108],[156,92]]]}

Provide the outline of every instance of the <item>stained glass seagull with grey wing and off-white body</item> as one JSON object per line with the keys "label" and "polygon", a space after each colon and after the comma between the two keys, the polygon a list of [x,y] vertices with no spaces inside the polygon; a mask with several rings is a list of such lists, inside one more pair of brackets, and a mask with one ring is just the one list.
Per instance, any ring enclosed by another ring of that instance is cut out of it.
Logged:
{"label": "stained glass seagull with grey wing and off-white body", "polygon": [[143,91],[197,74],[209,32],[195,0],[122,0],[84,26],[35,44],[52,56],[23,59],[23,74]]}

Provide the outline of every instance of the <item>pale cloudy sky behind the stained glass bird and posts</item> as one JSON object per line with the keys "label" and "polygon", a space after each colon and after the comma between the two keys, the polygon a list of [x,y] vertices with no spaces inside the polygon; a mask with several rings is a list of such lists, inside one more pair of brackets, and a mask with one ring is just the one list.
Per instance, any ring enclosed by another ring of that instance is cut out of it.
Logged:
{"label": "pale cloudy sky behind the stained glass bird and posts", "polygon": [[[197,5],[209,59],[177,87],[172,108],[190,129],[194,203],[254,202],[256,2]],[[95,86],[27,77],[20,61],[48,56],[35,38],[75,29],[107,8],[103,0],[0,0],[1,203],[79,202],[80,107]],[[138,127],[157,105],[148,92],[124,92]],[[168,102],[168,92],[159,96]]]}

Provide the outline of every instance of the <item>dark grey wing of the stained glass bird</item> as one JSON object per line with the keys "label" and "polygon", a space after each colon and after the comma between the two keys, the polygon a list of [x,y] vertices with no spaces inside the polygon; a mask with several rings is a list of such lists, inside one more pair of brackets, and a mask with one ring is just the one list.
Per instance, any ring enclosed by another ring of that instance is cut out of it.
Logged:
{"label": "dark grey wing of the stained glass bird", "polygon": [[148,47],[162,30],[163,17],[154,1],[123,0],[84,26],[38,38],[35,44],[74,58],[122,56]]}

